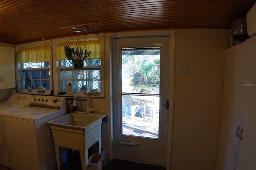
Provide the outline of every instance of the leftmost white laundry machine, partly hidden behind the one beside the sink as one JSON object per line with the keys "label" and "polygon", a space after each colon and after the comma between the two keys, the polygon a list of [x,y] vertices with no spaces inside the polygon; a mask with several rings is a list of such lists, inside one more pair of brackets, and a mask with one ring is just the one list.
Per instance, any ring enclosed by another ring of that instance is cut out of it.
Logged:
{"label": "leftmost white laundry machine, partly hidden behind the one beside the sink", "polygon": [[0,133],[1,133],[1,164],[10,167],[10,161],[8,157],[6,140],[4,135],[4,128],[2,126],[2,113],[15,111],[24,107],[29,107],[30,101],[33,98],[32,95],[14,93],[7,101],[0,103]]}

